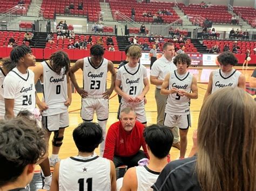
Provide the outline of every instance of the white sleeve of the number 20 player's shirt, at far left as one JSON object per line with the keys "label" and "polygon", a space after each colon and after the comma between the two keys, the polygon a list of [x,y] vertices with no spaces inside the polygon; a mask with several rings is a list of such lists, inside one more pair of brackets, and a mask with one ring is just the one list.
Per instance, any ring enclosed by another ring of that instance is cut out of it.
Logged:
{"label": "white sleeve of the number 20 player's shirt, at far left", "polygon": [[14,99],[16,93],[16,81],[11,76],[6,76],[3,82],[4,98]]}

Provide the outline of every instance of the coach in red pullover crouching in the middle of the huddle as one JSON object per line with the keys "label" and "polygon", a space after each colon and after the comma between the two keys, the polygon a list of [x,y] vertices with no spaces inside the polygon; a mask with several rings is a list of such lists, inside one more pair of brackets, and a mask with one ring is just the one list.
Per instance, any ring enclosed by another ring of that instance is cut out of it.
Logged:
{"label": "coach in red pullover crouching in the middle of the huddle", "polygon": [[[149,158],[143,137],[144,125],[136,121],[132,108],[121,111],[120,121],[112,124],[107,131],[103,157],[114,162],[116,167],[138,166],[142,158]],[[140,147],[143,150],[140,150]]]}

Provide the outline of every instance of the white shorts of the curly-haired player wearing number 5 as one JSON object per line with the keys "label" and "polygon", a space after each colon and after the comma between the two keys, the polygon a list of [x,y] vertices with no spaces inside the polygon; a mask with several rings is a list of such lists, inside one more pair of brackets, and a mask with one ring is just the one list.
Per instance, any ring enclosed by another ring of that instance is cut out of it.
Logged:
{"label": "white shorts of the curly-haired player wearing number 5", "polygon": [[164,117],[164,125],[170,128],[178,126],[179,129],[188,129],[191,126],[190,114],[187,115],[173,115],[166,114]]}

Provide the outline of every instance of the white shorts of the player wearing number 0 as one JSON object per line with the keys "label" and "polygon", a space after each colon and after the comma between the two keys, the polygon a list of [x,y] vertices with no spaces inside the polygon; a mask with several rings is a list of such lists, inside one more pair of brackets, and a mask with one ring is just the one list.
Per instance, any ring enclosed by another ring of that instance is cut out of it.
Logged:
{"label": "white shorts of the player wearing number 0", "polygon": [[43,128],[48,131],[57,131],[69,126],[69,112],[42,117]]}

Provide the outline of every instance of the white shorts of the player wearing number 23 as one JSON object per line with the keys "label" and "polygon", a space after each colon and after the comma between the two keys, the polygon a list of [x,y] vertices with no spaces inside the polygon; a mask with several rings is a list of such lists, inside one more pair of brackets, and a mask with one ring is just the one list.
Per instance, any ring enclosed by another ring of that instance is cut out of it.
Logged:
{"label": "white shorts of the player wearing number 23", "polygon": [[86,97],[82,99],[81,117],[84,121],[92,121],[96,112],[99,121],[109,118],[109,100],[104,98]]}

